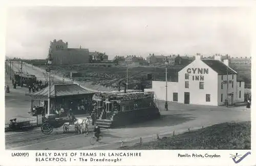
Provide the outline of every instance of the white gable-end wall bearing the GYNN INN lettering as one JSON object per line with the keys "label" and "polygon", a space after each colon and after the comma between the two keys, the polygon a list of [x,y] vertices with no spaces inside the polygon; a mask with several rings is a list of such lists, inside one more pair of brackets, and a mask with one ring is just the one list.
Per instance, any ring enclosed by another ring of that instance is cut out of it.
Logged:
{"label": "white gable-end wall bearing the GYNN INN lettering", "polygon": [[[203,73],[199,72],[198,68],[202,69]],[[188,73],[189,79],[185,79],[185,73]],[[195,79],[196,76],[199,76],[199,80]],[[200,78],[202,79],[200,80]],[[185,88],[185,81],[187,80],[189,81],[189,88]],[[204,89],[199,89],[200,81],[204,82]],[[200,58],[196,59],[179,71],[179,102],[184,103],[184,93],[189,92],[190,104],[218,105],[217,83],[218,73],[202,62]],[[210,94],[210,102],[206,102],[206,94]]]}

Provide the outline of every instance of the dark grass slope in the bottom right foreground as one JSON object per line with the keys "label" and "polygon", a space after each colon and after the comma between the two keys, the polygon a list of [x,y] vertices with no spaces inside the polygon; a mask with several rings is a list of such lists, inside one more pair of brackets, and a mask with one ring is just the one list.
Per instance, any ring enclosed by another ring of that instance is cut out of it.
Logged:
{"label": "dark grass slope in the bottom right foreground", "polygon": [[161,140],[122,147],[119,150],[149,149],[250,149],[251,122],[221,123]]}

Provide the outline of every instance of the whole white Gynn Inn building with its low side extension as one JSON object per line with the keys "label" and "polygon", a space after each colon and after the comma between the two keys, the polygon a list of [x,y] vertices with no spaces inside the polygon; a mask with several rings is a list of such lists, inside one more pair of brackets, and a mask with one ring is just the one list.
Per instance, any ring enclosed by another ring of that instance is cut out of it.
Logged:
{"label": "whole white Gynn Inn building with its low side extension", "polygon": [[[178,73],[178,82],[167,82],[167,101],[185,104],[229,105],[244,101],[244,81],[228,67],[228,60],[201,60],[200,54]],[[228,85],[228,86],[227,86]],[[153,81],[156,99],[166,100],[166,82]]]}

